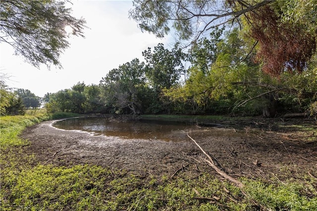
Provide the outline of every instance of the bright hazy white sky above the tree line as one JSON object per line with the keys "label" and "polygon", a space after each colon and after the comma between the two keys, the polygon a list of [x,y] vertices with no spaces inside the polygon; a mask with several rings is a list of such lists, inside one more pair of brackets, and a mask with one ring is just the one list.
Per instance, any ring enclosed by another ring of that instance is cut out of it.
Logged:
{"label": "bright hazy white sky above the tree line", "polygon": [[84,17],[89,29],[85,39],[70,38],[70,48],[60,57],[63,69],[45,65],[40,69],[14,55],[8,45],[0,44],[0,70],[10,75],[6,84],[11,88],[28,89],[39,97],[69,89],[77,82],[99,84],[102,77],[120,64],[133,58],[143,60],[142,52],[159,43],[171,44],[172,39],[158,39],[142,33],[134,20],[128,18],[132,2],[128,0],[72,0],[73,15]]}

